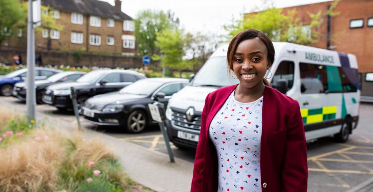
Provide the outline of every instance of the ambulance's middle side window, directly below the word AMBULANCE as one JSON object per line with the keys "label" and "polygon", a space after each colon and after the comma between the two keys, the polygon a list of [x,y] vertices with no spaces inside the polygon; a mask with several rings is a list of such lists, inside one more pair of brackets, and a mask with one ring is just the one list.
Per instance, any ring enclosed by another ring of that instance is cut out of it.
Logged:
{"label": "ambulance's middle side window, directly below the word AMBULANCE", "polygon": [[326,93],[328,78],[326,67],[308,63],[299,63],[300,92],[304,94]]}

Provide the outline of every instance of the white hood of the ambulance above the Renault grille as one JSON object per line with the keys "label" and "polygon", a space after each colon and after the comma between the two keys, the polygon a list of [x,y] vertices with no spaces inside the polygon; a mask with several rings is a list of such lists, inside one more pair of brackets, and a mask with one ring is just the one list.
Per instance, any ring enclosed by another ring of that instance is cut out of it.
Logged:
{"label": "white hood of the ambulance above the Renault grille", "polygon": [[216,88],[187,86],[172,96],[169,106],[181,109],[192,106],[196,111],[202,112],[204,99],[215,90]]}

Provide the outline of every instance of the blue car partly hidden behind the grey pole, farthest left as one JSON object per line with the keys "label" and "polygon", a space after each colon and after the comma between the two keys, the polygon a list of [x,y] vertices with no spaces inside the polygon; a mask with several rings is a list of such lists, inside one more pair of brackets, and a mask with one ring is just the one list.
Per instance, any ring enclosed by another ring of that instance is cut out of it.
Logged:
{"label": "blue car partly hidden behind the grey pole, farthest left", "polygon": [[[44,80],[48,77],[62,72],[61,70],[49,68],[35,68],[35,80]],[[27,68],[13,71],[5,76],[0,76],[0,95],[11,96],[14,84],[26,80]]]}

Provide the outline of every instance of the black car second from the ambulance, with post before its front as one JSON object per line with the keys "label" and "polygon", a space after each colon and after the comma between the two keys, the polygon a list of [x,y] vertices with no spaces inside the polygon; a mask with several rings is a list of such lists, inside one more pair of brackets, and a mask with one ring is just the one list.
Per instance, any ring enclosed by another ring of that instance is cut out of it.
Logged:
{"label": "black car second from the ambulance, with post before its front", "polygon": [[94,70],[76,82],[49,86],[43,95],[43,101],[59,110],[72,109],[71,87],[75,88],[77,102],[81,106],[91,96],[115,92],[145,78],[144,74],[129,70]]}

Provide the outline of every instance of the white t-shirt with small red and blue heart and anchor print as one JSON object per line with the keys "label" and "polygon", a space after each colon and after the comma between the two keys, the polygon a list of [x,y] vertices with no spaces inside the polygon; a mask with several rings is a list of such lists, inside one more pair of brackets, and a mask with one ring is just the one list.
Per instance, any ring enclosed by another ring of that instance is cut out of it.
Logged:
{"label": "white t-shirt with small red and blue heart and anchor print", "polygon": [[218,192],[262,192],[262,105],[263,96],[242,103],[233,91],[212,119],[209,137],[218,155]]}

